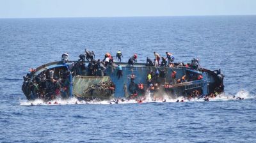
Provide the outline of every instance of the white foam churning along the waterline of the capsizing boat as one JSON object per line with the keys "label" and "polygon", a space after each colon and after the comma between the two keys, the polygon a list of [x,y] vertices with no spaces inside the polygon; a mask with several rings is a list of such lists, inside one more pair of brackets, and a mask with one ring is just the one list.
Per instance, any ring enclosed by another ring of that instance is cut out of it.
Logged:
{"label": "white foam churning along the waterline of the capsizing boat", "polygon": [[[248,91],[244,91],[241,90],[239,92],[236,93],[236,95],[231,95],[231,94],[219,94],[218,96],[216,96],[215,98],[209,98],[209,102],[212,101],[228,101],[228,100],[239,100],[237,98],[243,98],[244,100],[246,99],[250,99],[250,98],[255,98],[255,96],[253,96],[252,94],[250,94]],[[111,100],[92,100],[90,102],[86,102],[86,101],[79,101],[77,100],[77,98],[70,98],[68,100],[63,100],[61,98],[49,101],[49,102],[44,102],[43,100],[33,100],[33,101],[22,101],[20,102],[20,105],[25,105],[25,106],[36,106],[36,105],[74,105],[74,104],[101,104],[101,105],[109,105],[109,104],[116,104],[116,102],[118,101],[118,104],[129,104],[129,103],[163,103],[163,102],[177,102],[177,100],[179,100],[179,102],[205,102],[204,98],[192,98],[190,100],[188,100],[188,98],[184,98],[182,96],[177,97],[177,98],[172,98],[166,94],[164,94],[163,96],[160,96],[158,98],[155,98],[150,96],[150,93],[147,93],[144,97],[141,97],[137,100],[132,99],[132,100],[126,100],[122,98],[113,98]]]}

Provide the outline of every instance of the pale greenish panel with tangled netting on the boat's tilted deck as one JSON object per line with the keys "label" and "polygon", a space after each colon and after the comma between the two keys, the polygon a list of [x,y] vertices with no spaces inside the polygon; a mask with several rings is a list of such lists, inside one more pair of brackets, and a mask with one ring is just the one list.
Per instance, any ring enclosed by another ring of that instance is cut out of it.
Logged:
{"label": "pale greenish panel with tangled netting on the boat's tilted deck", "polygon": [[79,98],[110,98],[114,87],[110,77],[77,76],[73,79],[73,94]]}

